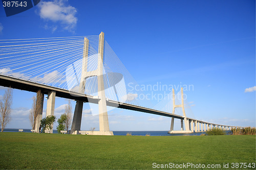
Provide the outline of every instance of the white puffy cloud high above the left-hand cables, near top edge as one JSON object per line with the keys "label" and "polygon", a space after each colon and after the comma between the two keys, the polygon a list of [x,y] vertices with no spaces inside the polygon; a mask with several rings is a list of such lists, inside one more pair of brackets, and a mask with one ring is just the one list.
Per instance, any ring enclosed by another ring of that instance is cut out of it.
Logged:
{"label": "white puffy cloud high above the left-hand cables, near top edge", "polygon": [[[77,17],[75,17],[77,10],[68,5],[67,0],[41,2],[38,4],[38,8],[39,15],[42,19],[60,23],[64,30],[73,32],[77,23]],[[47,28],[51,29],[52,32],[57,29],[56,26],[47,26]]]}

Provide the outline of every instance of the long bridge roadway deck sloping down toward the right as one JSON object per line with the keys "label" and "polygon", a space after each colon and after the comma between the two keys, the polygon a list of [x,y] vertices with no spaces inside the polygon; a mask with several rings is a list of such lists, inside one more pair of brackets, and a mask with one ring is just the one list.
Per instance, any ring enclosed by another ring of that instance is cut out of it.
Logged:
{"label": "long bridge roadway deck sloping down toward the right", "polygon": [[[19,90],[26,90],[26,91],[31,91],[31,92],[37,92],[38,89],[41,89],[41,91],[45,94],[48,94],[48,91],[54,90],[56,91],[56,96],[60,98],[66,98],[66,99],[71,99],[71,100],[79,100],[83,102],[90,102],[90,103],[95,103],[98,104],[98,98],[95,98],[93,95],[88,95],[88,94],[82,94],[74,91],[69,91],[67,89],[62,89],[62,88],[57,88],[45,84],[40,84],[40,83],[35,83],[32,81],[27,81],[23,79],[18,79],[14,78],[11,76],[5,76],[5,75],[0,75],[0,86],[4,87],[11,87]],[[113,101],[110,99],[106,99],[106,105],[107,106],[112,106],[112,107],[118,107],[122,109],[129,109],[129,110],[134,110],[134,111],[140,111],[140,112],[145,112],[145,113],[151,113],[151,114],[157,114],[161,116],[167,116],[167,117],[174,117],[178,119],[184,119],[183,116],[177,115],[177,114],[172,114],[160,110],[155,110],[151,108],[146,108],[142,106],[136,106],[132,104],[127,104],[127,103],[120,103],[117,101]],[[194,120],[199,123],[205,123],[209,125],[214,125],[214,126],[225,126],[225,125],[219,125],[219,124],[213,124],[213,123],[208,123],[204,122],[202,120],[197,120],[194,118],[188,118],[189,120]],[[228,126],[228,127],[234,127],[234,126]]]}

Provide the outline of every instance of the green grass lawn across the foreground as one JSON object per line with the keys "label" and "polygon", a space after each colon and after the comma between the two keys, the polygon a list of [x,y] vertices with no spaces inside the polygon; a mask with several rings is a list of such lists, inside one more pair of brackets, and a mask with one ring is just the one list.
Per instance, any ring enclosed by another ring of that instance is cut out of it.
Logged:
{"label": "green grass lawn across the foreground", "polygon": [[231,163],[255,163],[255,135],[0,133],[1,169],[153,169],[154,162],[221,164],[221,167],[229,163],[228,169],[232,169]]}

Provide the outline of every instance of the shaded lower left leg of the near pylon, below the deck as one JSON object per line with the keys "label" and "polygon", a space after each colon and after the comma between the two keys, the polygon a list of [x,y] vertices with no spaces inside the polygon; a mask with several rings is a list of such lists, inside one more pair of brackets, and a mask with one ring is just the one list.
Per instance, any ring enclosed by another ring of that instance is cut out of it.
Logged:
{"label": "shaded lower left leg of the near pylon, below the deck", "polygon": [[82,101],[76,101],[75,112],[73,116],[73,122],[70,130],[70,134],[79,134],[81,128],[81,120],[82,120]]}

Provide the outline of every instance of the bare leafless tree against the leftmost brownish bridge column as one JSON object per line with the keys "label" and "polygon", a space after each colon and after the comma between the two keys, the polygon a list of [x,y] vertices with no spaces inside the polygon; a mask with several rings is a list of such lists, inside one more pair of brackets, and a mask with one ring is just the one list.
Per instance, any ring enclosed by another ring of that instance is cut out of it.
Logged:
{"label": "bare leafless tree against the leftmost brownish bridge column", "polygon": [[[37,97],[38,97],[38,99],[40,99],[42,97],[41,90],[37,91]],[[35,96],[33,96],[32,99],[33,99],[33,104],[32,104],[32,109],[30,110],[30,113],[29,113],[29,120],[30,120],[32,129],[35,129],[36,117],[38,114],[37,110],[39,109],[39,105],[37,103],[39,101],[36,100]]]}

